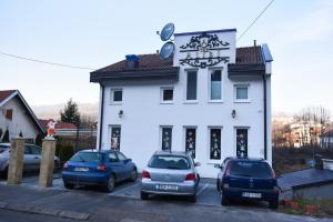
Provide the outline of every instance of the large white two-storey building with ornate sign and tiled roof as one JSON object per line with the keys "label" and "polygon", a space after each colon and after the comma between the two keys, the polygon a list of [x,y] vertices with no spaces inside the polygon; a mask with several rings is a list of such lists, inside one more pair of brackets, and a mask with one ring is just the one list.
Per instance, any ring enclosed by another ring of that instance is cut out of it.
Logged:
{"label": "large white two-storey building with ornate sign and tiled roof", "polygon": [[100,84],[98,148],[142,170],[154,151],[188,151],[201,176],[226,157],[272,162],[266,44],[236,48],[235,29],[174,34],[175,51],[128,57],[91,72]]}

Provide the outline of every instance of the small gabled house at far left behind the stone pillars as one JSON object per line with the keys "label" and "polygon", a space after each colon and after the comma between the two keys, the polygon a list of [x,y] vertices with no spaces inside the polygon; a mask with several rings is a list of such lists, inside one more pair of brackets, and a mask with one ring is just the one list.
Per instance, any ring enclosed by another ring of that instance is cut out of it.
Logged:
{"label": "small gabled house at far left behind the stone pillars", "polygon": [[44,133],[19,90],[0,91],[0,129],[8,129],[10,139],[22,135],[30,142],[34,142],[38,133]]}

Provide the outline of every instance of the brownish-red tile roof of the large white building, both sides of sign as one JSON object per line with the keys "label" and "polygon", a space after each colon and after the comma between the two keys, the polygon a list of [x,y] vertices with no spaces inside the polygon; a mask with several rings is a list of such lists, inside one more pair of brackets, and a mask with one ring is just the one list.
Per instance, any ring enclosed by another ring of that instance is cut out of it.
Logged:
{"label": "brownish-red tile roof of the large white building, both sides of sign", "polygon": [[[157,71],[168,70],[173,67],[173,58],[167,60],[160,59],[160,56],[154,54],[139,54],[139,65],[137,68],[128,68],[127,61],[122,60],[110,64],[105,68],[99,69],[94,72],[125,72],[125,71]],[[243,63],[263,63],[261,56],[261,47],[245,47],[236,49],[236,64]]]}

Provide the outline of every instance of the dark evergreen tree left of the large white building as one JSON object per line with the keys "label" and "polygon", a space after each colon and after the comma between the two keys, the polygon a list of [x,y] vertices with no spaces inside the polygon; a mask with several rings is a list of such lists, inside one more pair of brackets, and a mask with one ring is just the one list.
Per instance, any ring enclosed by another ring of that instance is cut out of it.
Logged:
{"label": "dark evergreen tree left of the large white building", "polygon": [[61,122],[70,122],[74,125],[80,125],[80,112],[78,109],[78,104],[70,99],[67,102],[67,105],[62,111],[60,111],[60,120]]}

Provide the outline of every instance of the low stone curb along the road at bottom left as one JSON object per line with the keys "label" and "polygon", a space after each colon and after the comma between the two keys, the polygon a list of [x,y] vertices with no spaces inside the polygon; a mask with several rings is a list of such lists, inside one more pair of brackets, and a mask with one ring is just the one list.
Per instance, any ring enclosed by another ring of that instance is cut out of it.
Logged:
{"label": "low stone curb along the road at bottom left", "polygon": [[90,216],[89,213],[79,213],[79,212],[74,212],[74,211],[47,209],[47,208],[40,208],[40,206],[27,205],[27,204],[11,204],[11,203],[1,202],[1,201],[0,201],[0,209],[4,209],[4,210],[9,210],[9,211],[19,211],[19,212],[27,212],[27,213],[37,213],[37,214],[43,214],[43,215],[59,216],[59,218],[73,219],[73,220],[88,220]]}

